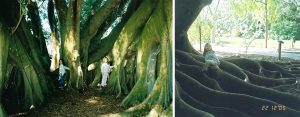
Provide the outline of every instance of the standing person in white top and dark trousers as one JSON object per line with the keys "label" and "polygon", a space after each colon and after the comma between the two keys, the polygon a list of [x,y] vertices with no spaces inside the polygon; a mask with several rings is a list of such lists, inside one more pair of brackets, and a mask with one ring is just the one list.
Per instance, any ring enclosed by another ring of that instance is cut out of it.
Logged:
{"label": "standing person in white top and dark trousers", "polygon": [[70,68],[63,65],[62,60],[59,60],[59,78],[58,78],[58,84],[59,88],[63,89],[65,85],[65,74],[66,70],[70,70]]}

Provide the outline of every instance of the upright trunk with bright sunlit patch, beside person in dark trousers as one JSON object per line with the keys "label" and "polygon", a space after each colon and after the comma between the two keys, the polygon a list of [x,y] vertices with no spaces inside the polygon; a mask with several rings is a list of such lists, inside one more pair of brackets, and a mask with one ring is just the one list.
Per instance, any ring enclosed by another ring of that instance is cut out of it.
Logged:
{"label": "upright trunk with bright sunlit patch, beside person in dark trousers", "polygon": [[[70,67],[70,78],[68,88],[79,88],[83,86],[80,71],[82,71],[80,61],[80,12],[82,0],[71,0],[67,9],[65,27],[62,25],[62,57]],[[78,84],[79,83],[79,84]]]}

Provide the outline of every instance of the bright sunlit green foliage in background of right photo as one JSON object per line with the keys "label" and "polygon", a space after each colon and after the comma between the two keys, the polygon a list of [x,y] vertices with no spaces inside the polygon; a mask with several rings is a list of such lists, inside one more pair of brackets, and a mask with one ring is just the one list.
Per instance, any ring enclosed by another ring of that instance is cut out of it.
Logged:
{"label": "bright sunlit green foliage in background of right photo", "polygon": [[217,1],[204,7],[191,25],[188,30],[191,41],[199,42],[200,25],[203,42],[224,36],[264,38],[266,25],[271,39],[300,40],[300,1],[268,0],[268,24],[265,23],[265,0],[224,0],[219,6]]}

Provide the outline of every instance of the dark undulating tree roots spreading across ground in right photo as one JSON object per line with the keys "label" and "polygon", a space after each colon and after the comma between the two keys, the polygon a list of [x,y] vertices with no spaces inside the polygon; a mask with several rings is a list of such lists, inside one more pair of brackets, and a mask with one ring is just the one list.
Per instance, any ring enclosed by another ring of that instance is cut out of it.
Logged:
{"label": "dark undulating tree roots spreading across ground in right photo", "polygon": [[[176,115],[201,116],[268,116],[300,115],[300,84],[297,77],[268,77],[259,69],[290,74],[280,64],[249,59],[221,60],[221,65],[202,71],[201,54],[176,50]],[[249,63],[249,65],[247,65]],[[264,65],[261,65],[263,63]],[[276,69],[267,69],[269,66]],[[241,67],[240,67],[241,66]],[[252,69],[249,66],[256,66]],[[263,68],[264,66],[264,68]],[[287,66],[286,66],[287,67]],[[288,67],[292,67],[289,65]],[[249,78],[249,82],[244,79]],[[284,77],[284,78],[283,78]],[[286,90],[291,90],[286,92]],[[299,92],[298,92],[299,93]],[[264,110],[268,106],[268,110]]]}

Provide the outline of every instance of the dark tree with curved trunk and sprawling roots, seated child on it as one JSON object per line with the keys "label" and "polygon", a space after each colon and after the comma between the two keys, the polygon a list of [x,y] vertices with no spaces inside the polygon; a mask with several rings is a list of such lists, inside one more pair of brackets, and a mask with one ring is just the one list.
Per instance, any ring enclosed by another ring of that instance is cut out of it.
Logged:
{"label": "dark tree with curved trunk and sprawling roots, seated child on it", "polygon": [[187,30],[210,3],[175,0],[175,116],[299,117],[299,62],[224,58],[219,68],[202,70]]}

